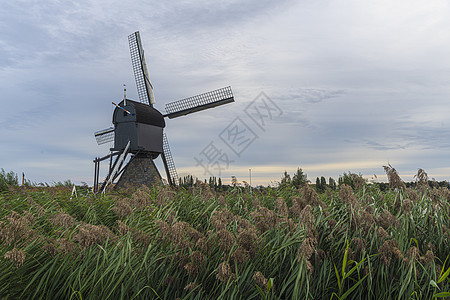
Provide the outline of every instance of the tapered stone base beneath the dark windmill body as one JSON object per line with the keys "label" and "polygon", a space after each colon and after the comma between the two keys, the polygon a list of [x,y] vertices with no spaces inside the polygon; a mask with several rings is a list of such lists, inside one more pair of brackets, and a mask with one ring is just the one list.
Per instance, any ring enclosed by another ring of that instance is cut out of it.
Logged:
{"label": "tapered stone base beneath the dark windmill body", "polygon": [[158,184],[162,184],[162,179],[151,155],[138,154],[130,159],[115,188]]}

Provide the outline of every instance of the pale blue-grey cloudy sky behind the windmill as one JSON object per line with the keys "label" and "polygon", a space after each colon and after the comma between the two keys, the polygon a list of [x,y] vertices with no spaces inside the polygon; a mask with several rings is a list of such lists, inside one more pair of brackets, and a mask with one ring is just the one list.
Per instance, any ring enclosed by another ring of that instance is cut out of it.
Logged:
{"label": "pale blue-grey cloudy sky behind the windmill", "polygon": [[444,0],[3,1],[0,167],[91,185],[111,146],[93,133],[111,126],[123,84],[137,99],[127,36],[140,31],[156,108],[235,95],[167,120],[181,176],[383,180],[390,163],[404,180],[418,168],[449,180],[448,28]]}

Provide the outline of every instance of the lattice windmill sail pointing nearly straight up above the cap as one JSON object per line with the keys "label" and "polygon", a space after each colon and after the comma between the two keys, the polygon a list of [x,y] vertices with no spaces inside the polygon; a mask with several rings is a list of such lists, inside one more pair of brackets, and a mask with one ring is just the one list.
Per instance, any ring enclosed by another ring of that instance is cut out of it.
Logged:
{"label": "lattice windmill sail pointing nearly straight up above the cap", "polygon": [[133,65],[139,101],[153,105],[155,104],[155,96],[153,95],[153,87],[150,83],[147,64],[145,63],[144,49],[142,48],[139,31],[128,36],[128,43],[130,45],[131,63]]}

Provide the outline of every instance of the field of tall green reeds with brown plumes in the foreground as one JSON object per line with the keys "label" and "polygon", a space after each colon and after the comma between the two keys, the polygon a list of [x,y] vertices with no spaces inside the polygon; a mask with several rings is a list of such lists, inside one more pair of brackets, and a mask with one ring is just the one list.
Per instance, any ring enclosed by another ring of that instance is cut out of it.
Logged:
{"label": "field of tall green reeds with brown plumes in the foreground", "polygon": [[0,195],[2,299],[450,297],[447,188],[71,191]]}

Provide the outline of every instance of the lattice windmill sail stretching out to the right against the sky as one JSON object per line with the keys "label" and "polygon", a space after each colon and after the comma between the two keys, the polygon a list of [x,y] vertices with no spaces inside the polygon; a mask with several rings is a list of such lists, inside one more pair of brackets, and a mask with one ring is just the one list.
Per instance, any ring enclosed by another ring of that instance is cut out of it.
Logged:
{"label": "lattice windmill sail stretching out to the right against the sky", "polygon": [[165,114],[164,117],[173,119],[230,102],[234,102],[234,96],[231,87],[228,86],[215,91],[167,103],[165,106],[167,114]]}

